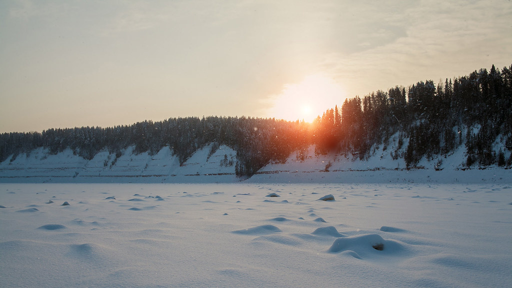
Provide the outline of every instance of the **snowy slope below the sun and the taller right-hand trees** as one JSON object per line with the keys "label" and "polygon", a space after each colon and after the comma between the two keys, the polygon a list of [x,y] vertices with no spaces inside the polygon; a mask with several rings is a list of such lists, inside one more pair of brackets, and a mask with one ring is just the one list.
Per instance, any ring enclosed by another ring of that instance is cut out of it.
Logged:
{"label": "snowy slope below the sun and the taller right-hand trees", "polygon": [[[434,155],[423,158],[414,169],[407,169],[403,157],[393,158],[394,153],[405,153],[407,142],[398,149],[396,139],[391,137],[387,147],[372,148],[372,156],[359,159],[359,155],[317,154],[315,146],[304,153],[304,160],[298,152],[292,153],[285,162],[269,163],[252,176],[249,182],[439,182],[439,183],[482,183],[512,181],[512,170],[498,167],[479,169],[464,166],[465,148],[459,147],[452,154]],[[407,141],[407,139],[406,139]],[[508,156],[507,156],[508,157]]]}

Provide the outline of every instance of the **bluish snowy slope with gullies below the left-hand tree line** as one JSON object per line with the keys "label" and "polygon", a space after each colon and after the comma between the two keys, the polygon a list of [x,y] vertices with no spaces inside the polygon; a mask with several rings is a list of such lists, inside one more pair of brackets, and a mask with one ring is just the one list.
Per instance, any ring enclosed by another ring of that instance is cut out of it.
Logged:
{"label": "bluish snowy slope with gullies below the left-hand tree line", "polygon": [[[0,163],[0,181],[3,182],[233,182],[232,149],[221,146],[208,157],[210,146],[198,150],[180,166],[178,158],[164,147],[155,155],[147,152],[135,154],[133,147],[115,154],[101,151],[86,160],[65,150],[50,155],[37,149],[20,154],[11,161]],[[222,161],[231,160],[231,166]]]}

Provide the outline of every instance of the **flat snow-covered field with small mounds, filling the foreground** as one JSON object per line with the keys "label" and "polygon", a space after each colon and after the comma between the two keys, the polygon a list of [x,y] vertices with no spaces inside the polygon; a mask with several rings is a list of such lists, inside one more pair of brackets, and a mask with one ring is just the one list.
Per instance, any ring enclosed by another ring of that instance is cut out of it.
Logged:
{"label": "flat snow-covered field with small mounds, filling the foreground", "polygon": [[503,183],[4,183],[0,286],[510,287],[511,202]]}

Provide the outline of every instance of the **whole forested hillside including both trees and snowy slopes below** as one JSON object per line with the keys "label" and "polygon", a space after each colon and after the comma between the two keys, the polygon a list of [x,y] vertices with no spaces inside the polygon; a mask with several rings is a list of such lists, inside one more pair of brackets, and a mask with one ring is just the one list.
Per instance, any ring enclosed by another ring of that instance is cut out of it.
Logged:
{"label": "whole forested hillside including both trees and snowy slopes below", "polygon": [[[444,178],[509,171],[511,152],[512,65],[493,65],[437,86],[418,81],[348,98],[313,123],[209,116],[3,133],[0,178],[232,182],[284,171],[320,173],[310,181],[354,171],[442,171]],[[198,174],[207,180],[191,176]]]}

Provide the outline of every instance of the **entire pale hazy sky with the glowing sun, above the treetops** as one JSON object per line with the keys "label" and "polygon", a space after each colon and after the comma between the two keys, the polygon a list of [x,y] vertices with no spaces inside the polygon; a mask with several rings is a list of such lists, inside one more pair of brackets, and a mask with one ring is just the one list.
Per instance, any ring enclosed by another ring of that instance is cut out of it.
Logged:
{"label": "entire pale hazy sky with the glowing sun, above the treetops", "polygon": [[510,0],[0,0],[0,133],[311,121],[345,98],[511,56]]}

